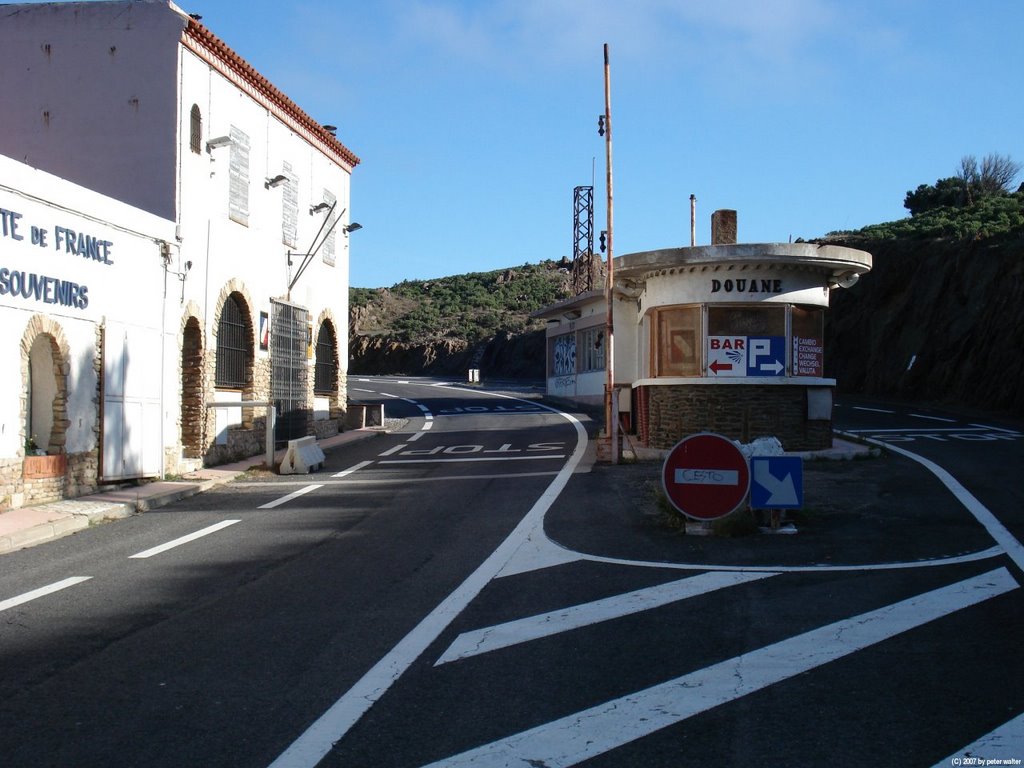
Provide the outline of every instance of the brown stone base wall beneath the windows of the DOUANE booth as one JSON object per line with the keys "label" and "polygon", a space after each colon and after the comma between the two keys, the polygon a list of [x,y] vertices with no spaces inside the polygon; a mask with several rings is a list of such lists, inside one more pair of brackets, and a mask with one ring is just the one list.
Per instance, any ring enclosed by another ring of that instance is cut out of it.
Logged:
{"label": "brown stone base wall beneath the windows of the DOUANE booth", "polygon": [[807,386],[672,384],[637,388],[640,439],[671,449],[686,435],[717,432],[740,442],[777,437],[786,451],[831,445],[831,420],[808,417]]}

